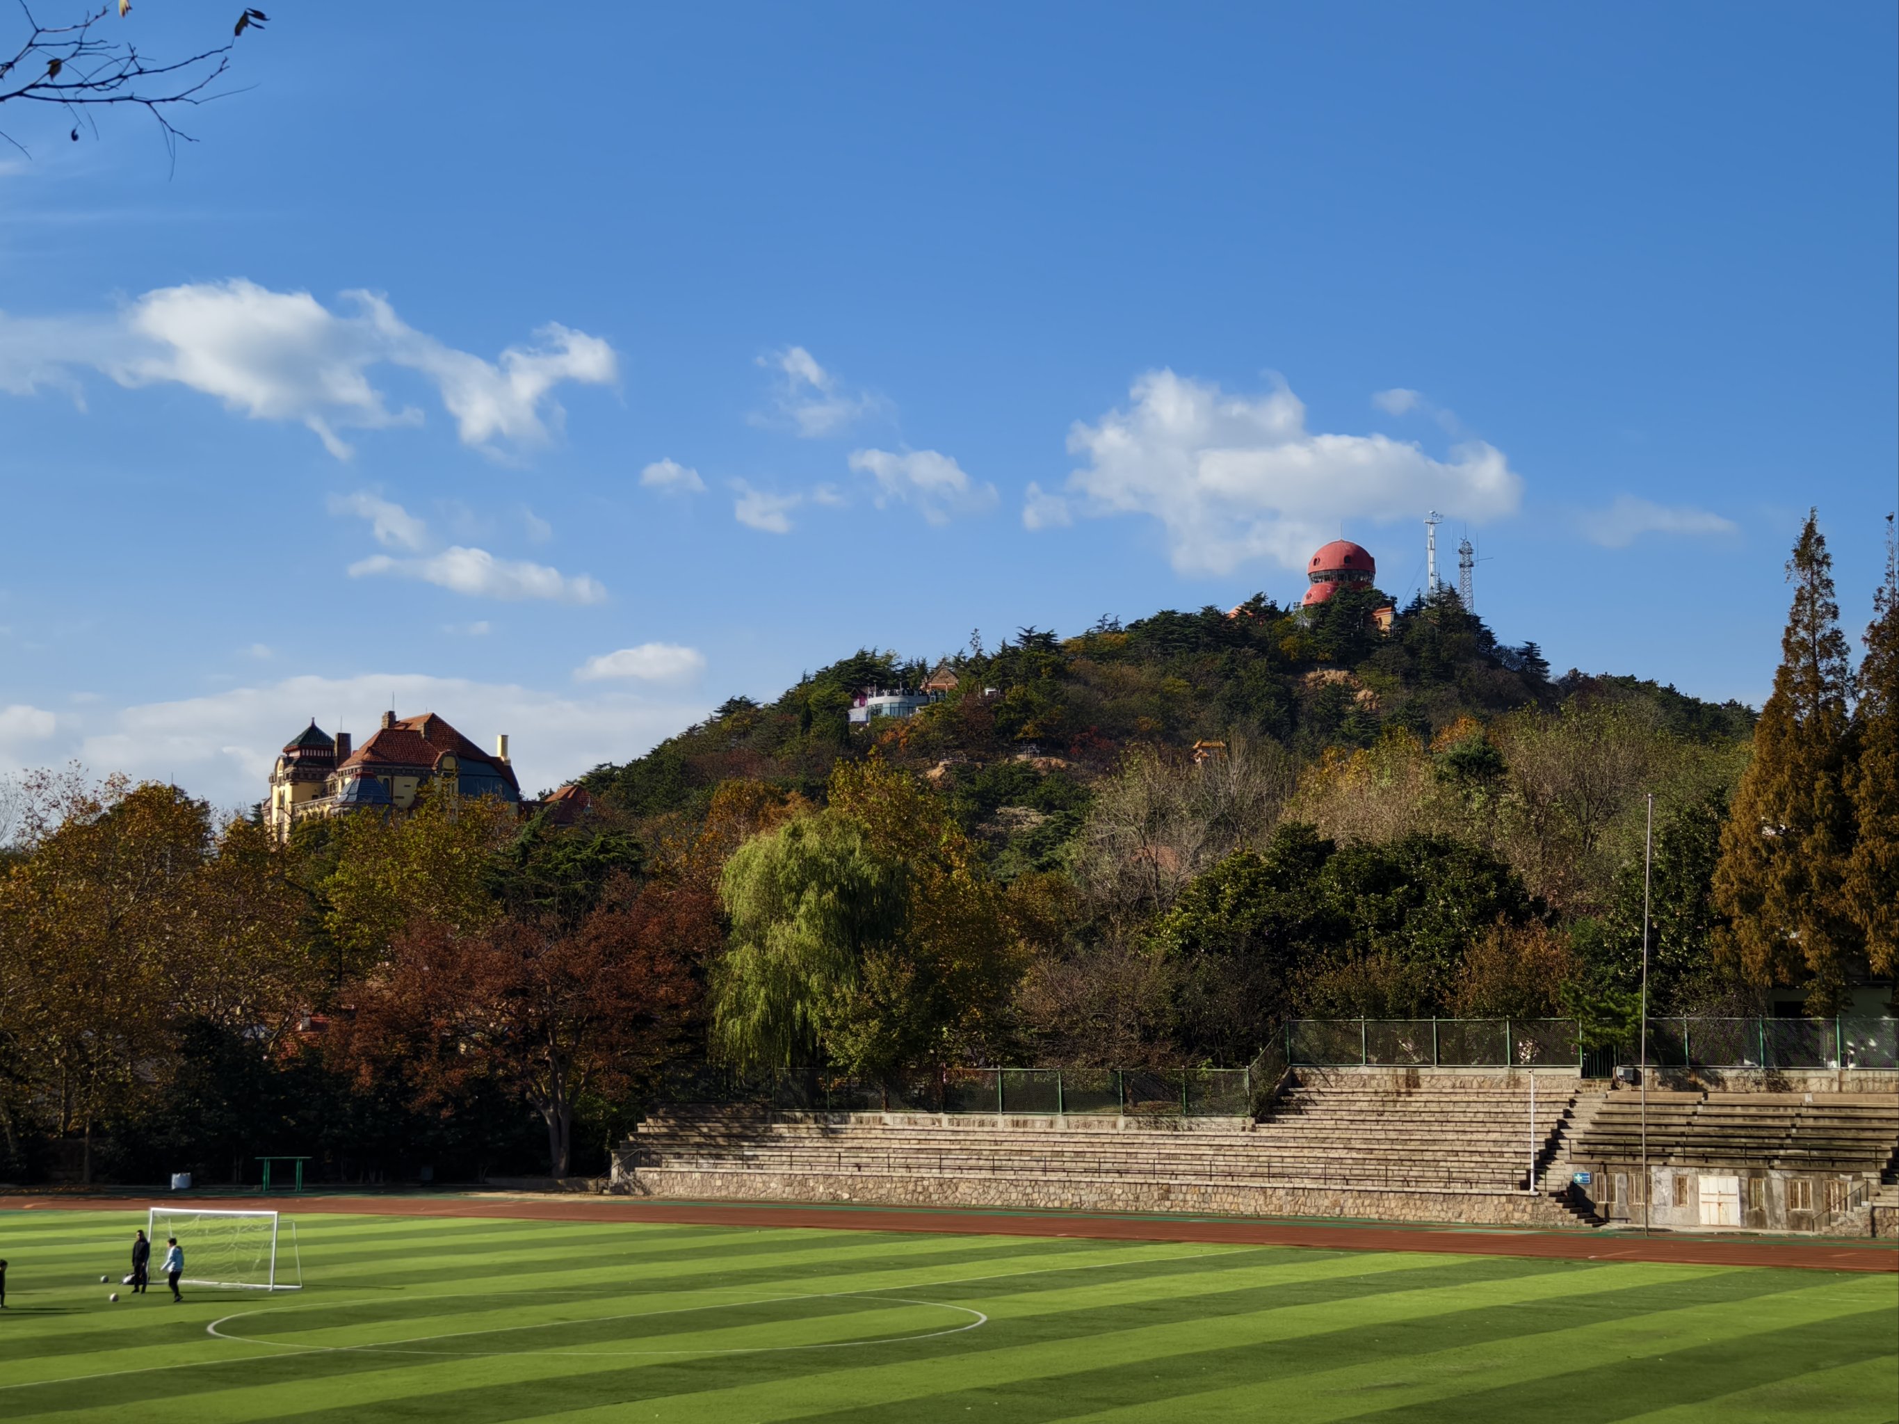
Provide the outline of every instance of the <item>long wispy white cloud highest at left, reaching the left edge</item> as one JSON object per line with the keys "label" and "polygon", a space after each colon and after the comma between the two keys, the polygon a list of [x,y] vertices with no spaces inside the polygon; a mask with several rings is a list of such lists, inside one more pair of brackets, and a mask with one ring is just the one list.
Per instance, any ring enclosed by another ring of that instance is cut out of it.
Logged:
{"label": "long wispy white cloud highest at left, reaching the left edge", "polygon": [[463,444],[482,448],[545,440],[562,418],[551,399],[562,382],[619,378],[608,342],[556,323],[541,327],[534,346],[511,346],[490,363],[408,327],[374,292],[344,292],[344,302],[351,309],[338,313],[310,292],[235,277],[163,287],[116,317],[0,313],[0,389],[78,391],[78,368],[127,387],[188,385],[251,420],[300,422],[344,459],[351,450],[338,431],[422,420],[420,410],[389,406],[370,382],[374,366],[422,374]]}

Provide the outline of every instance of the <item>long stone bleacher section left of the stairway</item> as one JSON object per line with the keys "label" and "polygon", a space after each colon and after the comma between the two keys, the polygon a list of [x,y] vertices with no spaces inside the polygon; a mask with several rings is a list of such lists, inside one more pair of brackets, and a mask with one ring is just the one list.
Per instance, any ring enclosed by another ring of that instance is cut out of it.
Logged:
{"label": "long stone bleacher section left of the stairway", "polygon": [[959,1204],[1229,1202],[1291,1211],[1335,1202],[1343,1215],[1476,1211],[1495,1221],[1529,1211],[1569,1221],[1559,1206],[1523,1198],[1532,1147],[1550,1160],[1578,1084],[1540,1080],[1532,1143],[1527,1080],[1514,1082],[1407,1086],[1403,1075],[1382,1084],[1324,1075],[1291,1088],[1257,1124],[676,1107],[640,1124],[617,1154],[615,1179],[697,1196],[929,1202],[934,1183],[936,1200]]}

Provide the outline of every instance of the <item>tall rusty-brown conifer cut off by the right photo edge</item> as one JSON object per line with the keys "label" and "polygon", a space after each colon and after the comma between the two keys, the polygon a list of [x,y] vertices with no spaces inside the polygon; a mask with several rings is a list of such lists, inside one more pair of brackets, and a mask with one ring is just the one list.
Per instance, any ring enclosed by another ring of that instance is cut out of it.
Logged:
{"label": "tall rusty-brown conifer cut off by the right photo edge", "polygon": [[1872,596],[1867,657],[1853,708],[1852,775],[1859,841],[1846,868],[1846,904],[1867,936],[1874,974],[1899,974],[1899,547],[1886,516],[1886,583]]}

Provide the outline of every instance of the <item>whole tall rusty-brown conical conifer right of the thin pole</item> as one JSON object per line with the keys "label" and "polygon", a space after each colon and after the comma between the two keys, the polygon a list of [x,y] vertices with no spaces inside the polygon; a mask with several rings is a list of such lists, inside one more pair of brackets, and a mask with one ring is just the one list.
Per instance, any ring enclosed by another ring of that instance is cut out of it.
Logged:
{"label": "whole tall rusty-brown conical conifer right of the thin pole", "polygon": [[1720,834],[1715,953],[1753,984],[1808,982],[1808,1012],[1834,1014],[1861,944],[1842,883],[1853,849],[1852,665],[1833,594],[1833,556],[1808,511],[1787,562],[1793,609],[1755,756]]}

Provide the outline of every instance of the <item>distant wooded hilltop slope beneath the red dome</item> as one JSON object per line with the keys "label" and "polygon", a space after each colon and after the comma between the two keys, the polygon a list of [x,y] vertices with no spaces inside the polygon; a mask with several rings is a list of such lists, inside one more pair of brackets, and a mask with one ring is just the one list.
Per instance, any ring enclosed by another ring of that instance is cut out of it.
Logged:
{"label": "distant wooded hilltop slope beneath the red dome", "polygon": [[[978,634],[936,665],[955,676],[942,701],[913,718],[851,727],[860,691],[919,687],[931,672],[921,659],[860,649],[775,703],[733,699],[644,758],[596,767],[585,784],[648,834],[665,834],[703,820],[722,784],[820,803],[839,761],[875,759],[942,792],[963,830],[989,849],[995,873],[1014,879],[1075,866],[1077,837],[1101,815],[1100,796],[1115,801],[1130,756],[1185,765],[1200,744],[1202,763],[1227,761],[1261,780],[1255,794],[1270,801],[1263,822],[1305,788],[1310,811],[1367,834],[1333,805],[1339,796],[1322,796],[1326,786],[1341,796],[1360,788],[1360,799],[1382,803],[1390,794],[1371,794],[1367,777],[1384,788],[1384,773],[1424,775],[1460,792],[1426,797],[1441,818],[1453,801],[1466,811],[1496,801],[1498,778],[1510,778],[1506,742],[1532,775],[1531,759],[1610,731],[1639,731],[1650,752],[1667,746],[1686,759],[1719,759],[1751,737],[1755,714],[1736,703],[1709,704],[1633,678],[1551,680],[1536,644],[1498,644],[1451,592],[1413,602],[1388,632],[1371,619],[1384,602],[1352,589],[1301,611],[1257,596],[1231,613],[1162,611],[1126,627],[1103,619],[1073,638],[1022,628],[993,651]],[[1620,769],[1624,780],[1648,771],[1637,761]],[[1582,816],[1576,830],[1595,851],[1605,834],[1595,822],[1608,807],[1569,811]],[[1540,816],[1544,832],[1550,820]]]}

